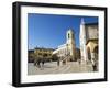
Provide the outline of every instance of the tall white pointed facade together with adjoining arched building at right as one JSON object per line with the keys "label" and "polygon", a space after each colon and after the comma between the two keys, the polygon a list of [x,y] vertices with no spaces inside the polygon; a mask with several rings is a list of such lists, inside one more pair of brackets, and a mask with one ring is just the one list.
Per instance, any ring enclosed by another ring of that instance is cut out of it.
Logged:
{"label": "tall white pointed facade together with adjoining arched building at right", "polygon": [[98,60],[98,23],[80,23],[80,53],[81,60]]}

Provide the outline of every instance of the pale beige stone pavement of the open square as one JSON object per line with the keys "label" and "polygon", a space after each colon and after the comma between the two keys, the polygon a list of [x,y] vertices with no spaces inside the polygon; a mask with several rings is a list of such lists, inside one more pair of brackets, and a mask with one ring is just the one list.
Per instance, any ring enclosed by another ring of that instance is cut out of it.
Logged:
{"label": "pale beige stone pavement of the open square", "polygon": [[67,73],[88,73],[92,71],[92,66],[79,64],[78,62],[68,62],[66,65],[57,66],[57,62],[45,63],[44,67],[38,68],[33,63],[28,63],[28,75],[43,74],[67,74]]}

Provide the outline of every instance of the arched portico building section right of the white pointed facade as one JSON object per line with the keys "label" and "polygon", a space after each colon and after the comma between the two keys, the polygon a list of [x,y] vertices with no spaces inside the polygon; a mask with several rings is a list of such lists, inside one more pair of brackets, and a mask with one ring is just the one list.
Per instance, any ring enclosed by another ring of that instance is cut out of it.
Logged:
{"label": "arched portico building section right of the white pointed facade", "polygon": [[86,48],[88,59],[98,60],[98,23],[86,24],[87,41]]}

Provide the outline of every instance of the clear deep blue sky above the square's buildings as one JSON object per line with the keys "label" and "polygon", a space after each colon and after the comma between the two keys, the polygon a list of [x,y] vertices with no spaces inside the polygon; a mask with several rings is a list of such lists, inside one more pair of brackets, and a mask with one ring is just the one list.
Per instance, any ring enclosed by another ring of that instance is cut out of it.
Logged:
{"label": "clear deep blue sky above the square's buildings", "polygon": [[76,47],[79,47],[79,26],[84,18],[85,23],[98,22],[97,16],[56,15],[56,14],[28,14],[28,45],[29,49],[36,46],[57,48],[66,43],[66,32],[75,32]]}

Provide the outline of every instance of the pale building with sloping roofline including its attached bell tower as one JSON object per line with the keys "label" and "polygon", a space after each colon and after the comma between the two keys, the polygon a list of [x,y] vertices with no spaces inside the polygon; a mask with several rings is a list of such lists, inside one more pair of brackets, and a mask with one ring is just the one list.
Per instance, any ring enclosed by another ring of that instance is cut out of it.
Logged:
{"label": "pale building with sloping roofline including its attached bell tower", "polygon": [[53,54],[56,54],[62,59],[69,56],[72,60],[75,60],[75,55],[76,55],[75,34],[72,29],[67,31],[66,38],[67,38],[66,43],[59,45],[58,48],[53,52]]}

